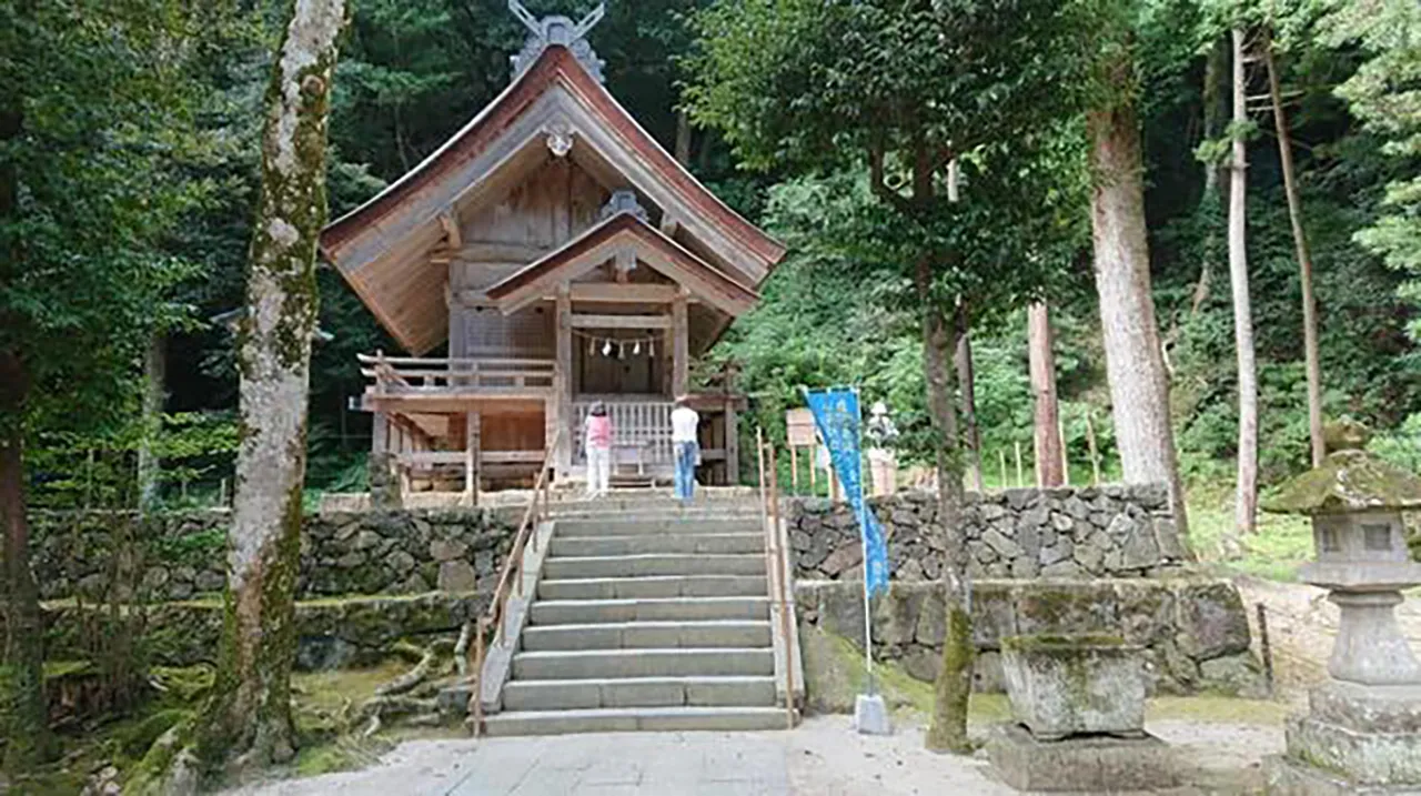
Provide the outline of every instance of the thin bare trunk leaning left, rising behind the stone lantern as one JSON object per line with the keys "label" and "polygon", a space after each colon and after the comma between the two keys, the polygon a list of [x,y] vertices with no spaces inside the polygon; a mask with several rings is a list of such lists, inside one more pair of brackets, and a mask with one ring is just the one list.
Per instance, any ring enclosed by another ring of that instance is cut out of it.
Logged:
{"label": "thin bare trunk leaning left, rising behind the stone lantern", "polygon": [[1293,247],[1297,250],[1299,280],[1303,289],[1303,361],[1307,367],[1307,438],[1312,441],[1313,466],[1322,466],[1327,458],[1323,442],[1323,374],[1317,358],[1317,303],[1313,300],[1313,259],[1307,253],[1307,235],[1303,232],[1303,202],[1297,196],[1297,178],[1293,171],[1293,139],[1287,131],[1287,115],[1283,112],[1283,90],[1273,61],[1273,41],[1263,43],[1263,61],[1268,64],[1268,91],[1273,97],[1273,125],[1277,128],[1277,156],[1283,162],[1283,193],[1287,195],[1287,219],[1293,226]]}

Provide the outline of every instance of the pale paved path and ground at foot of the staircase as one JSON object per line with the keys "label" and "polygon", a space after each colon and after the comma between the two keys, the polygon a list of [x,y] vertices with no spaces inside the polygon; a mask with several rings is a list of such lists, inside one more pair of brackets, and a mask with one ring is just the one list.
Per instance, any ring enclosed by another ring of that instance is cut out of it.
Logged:
{"label": "pale paved path and ground at foot of the staircase", "polygon": [[[911,796],[1009,795],[980,760],[922,749],[922,731],[864,738],[848,716],[794,732],[620,732],[401,743],[369,769],[247,786],[232,796]],[[948,790],[944,790],[946,787]]]}

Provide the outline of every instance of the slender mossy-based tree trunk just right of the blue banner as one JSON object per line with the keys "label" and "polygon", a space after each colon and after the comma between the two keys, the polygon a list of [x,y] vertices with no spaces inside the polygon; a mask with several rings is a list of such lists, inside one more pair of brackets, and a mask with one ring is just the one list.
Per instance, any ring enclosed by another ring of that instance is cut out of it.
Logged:
{"label": "slender mossy-based tree trunk just right of the blue banner", "polygon": [[972,696],[976,648],[972,645],[972,617],[968,613],[966,540],[962,537],[962,446],[952,399],[952,353],[958,334],[956,326],[932,296],[932,266],[928,260],[918,263],[915,281],[922,307],[922,368],[938,468],[938,522],[946,549],[942,573],[946,637],[942,671],[934,687],[926,746],[936,752],[966,753],[972,751],[968,701]]}

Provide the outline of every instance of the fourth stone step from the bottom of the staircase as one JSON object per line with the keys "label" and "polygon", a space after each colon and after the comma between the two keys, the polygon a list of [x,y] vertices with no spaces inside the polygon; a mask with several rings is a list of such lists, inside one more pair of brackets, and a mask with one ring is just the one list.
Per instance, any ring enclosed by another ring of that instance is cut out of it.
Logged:
{"label": "fourth stone step from the bottom of the staircase", "polygon": [[523,650],[769,647],[770,623],[746,620],[549,624],[523,630]]}

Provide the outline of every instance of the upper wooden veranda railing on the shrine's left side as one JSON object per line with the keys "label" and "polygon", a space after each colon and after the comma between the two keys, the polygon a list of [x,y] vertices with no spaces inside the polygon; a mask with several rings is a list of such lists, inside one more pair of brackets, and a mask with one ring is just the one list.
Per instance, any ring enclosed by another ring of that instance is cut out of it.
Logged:
{"label": "upper wooden veranda railing on the shrine's left side", "polygon": [[377,397],[553,389],[557,375],[551,360],[387,357],[382,351],[355,357],[361,375],[372,380],[367,392]]}

